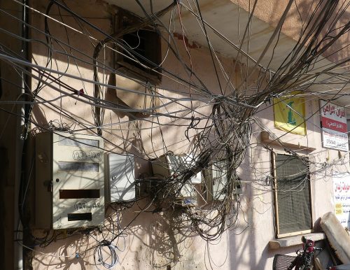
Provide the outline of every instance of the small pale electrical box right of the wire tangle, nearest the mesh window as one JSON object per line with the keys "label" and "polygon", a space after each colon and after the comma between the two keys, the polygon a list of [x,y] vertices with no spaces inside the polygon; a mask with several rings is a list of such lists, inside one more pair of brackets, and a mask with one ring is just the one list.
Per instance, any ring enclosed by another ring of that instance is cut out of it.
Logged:
{"label": "small pale electrical box right of the wire tangle, nearest the mesh window", "polygon": [[[204,169],[205,193],[207,201],[222,201],[227,197],[228,163],[214,162],[209,169]],[[234,194],[241,194],[241,181],[236,180]]]}

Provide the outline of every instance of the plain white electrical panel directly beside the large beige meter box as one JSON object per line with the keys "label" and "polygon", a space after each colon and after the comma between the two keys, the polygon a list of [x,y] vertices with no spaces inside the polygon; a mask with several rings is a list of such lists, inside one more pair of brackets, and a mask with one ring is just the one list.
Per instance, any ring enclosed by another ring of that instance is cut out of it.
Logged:
{"label": "plain white electrical panel directly beside the large beige meter box", "polygon": [[135,199],[134,156],[107,154],[104,164],[106,201],[131,201]]}

